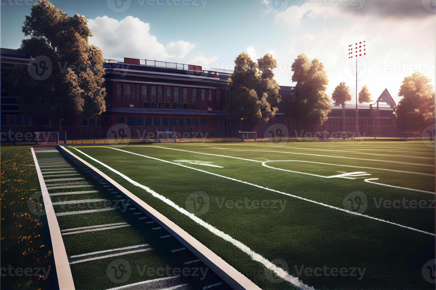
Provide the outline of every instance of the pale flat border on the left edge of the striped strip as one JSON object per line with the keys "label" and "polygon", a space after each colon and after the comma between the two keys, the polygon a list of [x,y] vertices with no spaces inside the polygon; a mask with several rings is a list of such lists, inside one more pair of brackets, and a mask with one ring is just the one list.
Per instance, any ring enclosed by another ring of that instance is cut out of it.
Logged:
{"label": "pale flat border on the left edge of the striped strip", "polygon": [[60,290],[74,290],[74,282],[71,274],[68,256],[65,251],[64,240],[62,239],[61,229],[59,228],[58,219],[51,204],[50,195],[48,195],[47,187],[45,186],[44,177],[42,177],[41,169],[36,159],[35,151],[31,148],[33,160],[35,162],[36,171],[38,173],[41,193],[44,200],[44,208],[47,215],[48,228],[50,230],[51,244],[53,246],[54,263],[56,273],[58,274],[58,283]]}

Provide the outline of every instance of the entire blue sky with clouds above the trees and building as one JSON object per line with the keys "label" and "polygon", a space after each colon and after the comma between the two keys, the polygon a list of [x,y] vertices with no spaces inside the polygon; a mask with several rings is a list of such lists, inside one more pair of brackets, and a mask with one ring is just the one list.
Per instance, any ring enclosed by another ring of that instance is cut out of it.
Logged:
{"label": "entire blue sky with clouds above the trees and building", "polygon": [[[116,2],[118,1],[118,2]],[[232,69],[242,51],[272,53],[281,85],[292,85],[299,53],[318,58],[331,95],[341,81],[355,94],[348,44],[365,40],[358,90],[373,99],[388,88],[395,100],[405,76],[435,80],[436,10],[432,0],[52,0],[68,15],[85,15],[105,58],[135,57]],[[1,0],[1,47],[17,48],[30,0]],[[115,3],[121,10],[117,12]],[[428,4],[429,4],[428,3]],[[179,4],[179,5],[176,5]]]}

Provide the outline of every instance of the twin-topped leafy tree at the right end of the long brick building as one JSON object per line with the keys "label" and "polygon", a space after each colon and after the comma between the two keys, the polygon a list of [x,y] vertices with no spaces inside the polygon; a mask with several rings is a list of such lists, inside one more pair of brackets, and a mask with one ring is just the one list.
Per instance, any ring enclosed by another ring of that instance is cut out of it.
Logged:
{"label": "twin-topped leafy tree at the right end of the long brick building", "polygon": [[278,111],[279,84],[274,80],[277,61],[270,55],[255,63],[243,52],[235,60],[235,71],[228,79],[228,115],[244,118],[253,125],[268,122]]}

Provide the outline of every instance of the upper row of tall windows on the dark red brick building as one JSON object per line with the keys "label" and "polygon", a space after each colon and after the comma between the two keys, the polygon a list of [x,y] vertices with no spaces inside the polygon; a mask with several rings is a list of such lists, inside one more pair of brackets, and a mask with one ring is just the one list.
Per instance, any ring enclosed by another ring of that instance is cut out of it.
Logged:
{"label": "upper row of tall windows on the dark red brick building", "polygon": [[[165,89],[164,89],[165,88]],[[191,90],[191,93],[189,93]],[[223,97],[223,90],[216,90],[216,101]],[[186,87],[163,87],[155,85],[143,85],[134,83],[115,83],[116,100],[135,100],[150,103],[177,103],[188,104],[188,97],[191,103],[196,104],[198,97],[201,100],[212,101],[212,89],[188,89]]]}

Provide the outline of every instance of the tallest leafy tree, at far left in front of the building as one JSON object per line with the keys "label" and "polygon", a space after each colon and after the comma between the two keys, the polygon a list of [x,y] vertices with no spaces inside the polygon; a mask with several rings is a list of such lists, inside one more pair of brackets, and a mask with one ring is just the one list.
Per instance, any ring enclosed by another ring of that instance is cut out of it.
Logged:
{"label": "tallest leafy tree, at far left in front of the building", "polygon": [[31,15],[26,16],[26,38],[20,50],[34,61],[43,58],[43,65],[51,68],[51,74],[38,80],[26,72],[18,81],[24,112],[88,117],[106,111],[103,53],[89,45],[92,34],[88,20],[78,14],[66,14],[50,2],[39,0]]}

